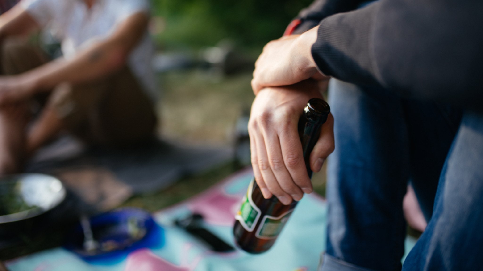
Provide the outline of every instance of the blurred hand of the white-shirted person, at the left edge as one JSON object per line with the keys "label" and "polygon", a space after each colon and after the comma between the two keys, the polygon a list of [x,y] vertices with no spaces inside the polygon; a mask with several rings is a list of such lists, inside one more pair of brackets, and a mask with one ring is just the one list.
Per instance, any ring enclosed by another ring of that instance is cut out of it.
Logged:
{"label": "blurred hand of the white-shirted person, at the left edge", "polygon": [[0,106],[28,100],[34,95],[34,93],[34,83],[27,77],[0,77]]}

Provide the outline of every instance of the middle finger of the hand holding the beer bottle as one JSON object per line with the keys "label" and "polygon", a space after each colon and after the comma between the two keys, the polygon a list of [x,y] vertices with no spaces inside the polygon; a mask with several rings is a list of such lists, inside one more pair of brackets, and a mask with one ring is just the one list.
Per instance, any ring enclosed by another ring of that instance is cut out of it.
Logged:
{"label": "middle finger of the hand holding the beer bottle", "polygon": [[267,149],[270,168],[275,179],[285,193],[289,194],[296,201],[301,200],[303,192],[294,182],[292,176],[285,167],[279,137],[274,132],[269,132],[266,129],[262,129],[262,133],[265,138],[265,147]]}

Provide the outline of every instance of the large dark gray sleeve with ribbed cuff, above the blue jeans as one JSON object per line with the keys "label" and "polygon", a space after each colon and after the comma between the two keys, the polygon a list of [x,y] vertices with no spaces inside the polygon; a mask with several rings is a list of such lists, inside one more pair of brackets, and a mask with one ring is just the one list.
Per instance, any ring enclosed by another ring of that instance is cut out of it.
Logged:
{"label": "large dark gray sleeve with ribbed cuff, above the blue jeans", "polygon": [[313,58],[326,75],[483,110],[483,1],[379,0],[327,17]]}

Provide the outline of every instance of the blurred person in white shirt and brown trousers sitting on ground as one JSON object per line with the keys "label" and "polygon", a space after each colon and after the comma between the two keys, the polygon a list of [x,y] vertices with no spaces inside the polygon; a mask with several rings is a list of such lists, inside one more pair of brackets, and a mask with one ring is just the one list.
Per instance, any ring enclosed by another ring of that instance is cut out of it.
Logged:
{"label": "blurred person in white shirt and brown trousers sitting on ground", "polygon": [[[148,0],[23,0],[0,16],[0,175],[61,131],[114,146],[154,135],[149,18]],[[39,29],[61,40],[61,58],[26,41]]]}

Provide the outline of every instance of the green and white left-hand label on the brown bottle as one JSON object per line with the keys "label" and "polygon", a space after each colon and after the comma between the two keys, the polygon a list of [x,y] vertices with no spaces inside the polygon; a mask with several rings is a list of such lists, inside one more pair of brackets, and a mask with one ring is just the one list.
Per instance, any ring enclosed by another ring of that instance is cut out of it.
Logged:
{"label": "green and white left-hand label on the brown bottle", "polygon": [[246,191],[246,195],[243,196],[240,211],[238,211],[235,216],[235,219],[240,221],[241,226],[248,232],[253,232],[256,223],[258,222],[258,219],[260,219],[260,216],[262,215],[262,212],[255,205],[252,199],[254,181],[255,179],[250,182],[248,190]]}

